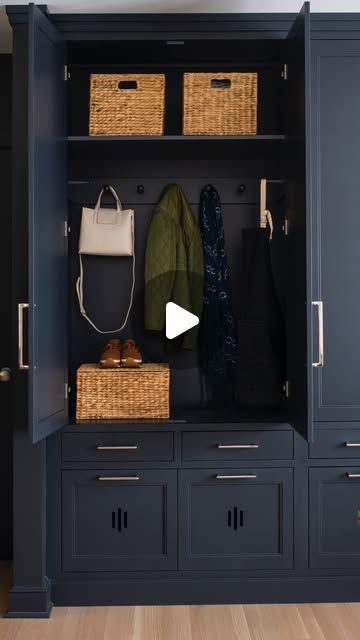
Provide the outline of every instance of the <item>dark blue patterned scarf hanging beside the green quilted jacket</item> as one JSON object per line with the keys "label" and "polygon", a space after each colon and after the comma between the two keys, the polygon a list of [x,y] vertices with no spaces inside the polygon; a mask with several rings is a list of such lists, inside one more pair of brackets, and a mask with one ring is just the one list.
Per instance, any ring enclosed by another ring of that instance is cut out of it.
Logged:
{"label": "dark blue patterned scarf hanging beside the green quilted jacket", "polygon": [[237,341],[220,197],[212,185],[201,191],[199,225],[205,266],[200,367],[210,400],[223,404],[231,398]]}

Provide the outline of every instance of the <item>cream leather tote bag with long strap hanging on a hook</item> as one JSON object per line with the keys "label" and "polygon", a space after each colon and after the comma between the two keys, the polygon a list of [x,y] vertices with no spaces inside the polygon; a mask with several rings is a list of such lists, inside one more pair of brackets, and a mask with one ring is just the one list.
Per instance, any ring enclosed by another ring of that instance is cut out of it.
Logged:
{"label": "cream leather tote bag with long strap hanging on a hook", "polygon": [[[129,318],[135,288],[135,228],[134,210],[122,209],[119,197],[112,187],[109,187],[116,201],[116,209],[101,208],[101,198],[104,189],[101,190],[95,209],[83,207],[81,215],[81,228],[79,240],[80,275],[76,282],[76,292],[79,300],[81,315],[91,324],[98,333],[118,333]],[[83,293],[83,255],[93,256],[132,256],[132,286],[130,303],[125,319],[121,327],[110,331],[102,331],[89,318],[84,307]]]}

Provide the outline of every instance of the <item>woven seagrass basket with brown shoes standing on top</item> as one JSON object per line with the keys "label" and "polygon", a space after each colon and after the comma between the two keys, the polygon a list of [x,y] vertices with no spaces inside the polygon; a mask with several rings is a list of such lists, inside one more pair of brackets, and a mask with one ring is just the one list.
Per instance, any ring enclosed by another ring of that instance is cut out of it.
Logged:
{"label": "woven seagrass basket with brown shoes standing on top", "polygon": [[168,364],[134,369],[101,369],[83,364],[77,370],[76,419],[169,417]]}

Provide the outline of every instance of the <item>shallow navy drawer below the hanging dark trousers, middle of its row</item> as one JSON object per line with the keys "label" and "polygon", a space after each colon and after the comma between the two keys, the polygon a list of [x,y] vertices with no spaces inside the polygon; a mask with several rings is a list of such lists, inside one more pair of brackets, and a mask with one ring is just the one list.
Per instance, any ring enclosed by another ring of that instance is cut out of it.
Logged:
{"label": "shallow navy drawer below the hanging dark trousers, middle of its row", "polygon": [[292,431],[206,431],[182,434],[183,460],[291,460]]}

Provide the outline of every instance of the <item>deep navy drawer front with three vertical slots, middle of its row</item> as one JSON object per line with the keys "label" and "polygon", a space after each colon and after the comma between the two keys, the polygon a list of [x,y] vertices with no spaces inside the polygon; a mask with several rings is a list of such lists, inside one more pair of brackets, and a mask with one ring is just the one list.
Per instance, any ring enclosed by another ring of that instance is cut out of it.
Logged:
{"label": "deep navy drawer front with three vertical slots, middle of its row", "polygon": [[180,569],[293,566],[293,470],[179,473]]}

